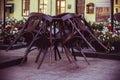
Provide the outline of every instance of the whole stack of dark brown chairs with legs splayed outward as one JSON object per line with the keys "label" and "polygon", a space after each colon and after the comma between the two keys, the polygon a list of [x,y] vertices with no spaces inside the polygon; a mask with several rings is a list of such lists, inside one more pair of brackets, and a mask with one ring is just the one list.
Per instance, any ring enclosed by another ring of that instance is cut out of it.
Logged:
{"label": "whole stack of dark brown chairs with legs splayed outward", "polygon": [[74,55],[77,50],[83,55],[85,61],[89,64],[82,49],[84,47],[90,47],[93,51],[96,51],[89,41],[90,38],[97,41],[105,50],[108,50],[93,35],[87,21],[81,15],[74,13],[64,13],[57,16],[31,13],[24,27],[7,50],[9,50],[21,36],[24,36],[26,39],[25,41],[27,42],[27,48],[21,63],[25,62],[28,54],[32,50],[38,49],[39,53],[35,60],[35,62],[40,60],[38,69],[43,63],[48,51],[50,54],[50,62],[52,61],[52,50],[54,52],[55,60],[57,60],[57,56],[61,59],[62,57],[59,48],[63,50],[70,63],[74,63],[78,66],[76,63],[76,56]]}

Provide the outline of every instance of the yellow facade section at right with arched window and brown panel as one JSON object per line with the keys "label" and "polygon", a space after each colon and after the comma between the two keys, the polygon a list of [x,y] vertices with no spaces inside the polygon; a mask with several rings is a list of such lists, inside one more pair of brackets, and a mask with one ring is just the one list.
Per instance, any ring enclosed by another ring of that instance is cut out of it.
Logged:
{"label": "yellow facade section at right with arched window and brown panel", "polygon": [[84,16],[87,21],[106,22],[111,17],[111,4],[114,5],[114,14],[120,13],[120,0],[85,0]]}

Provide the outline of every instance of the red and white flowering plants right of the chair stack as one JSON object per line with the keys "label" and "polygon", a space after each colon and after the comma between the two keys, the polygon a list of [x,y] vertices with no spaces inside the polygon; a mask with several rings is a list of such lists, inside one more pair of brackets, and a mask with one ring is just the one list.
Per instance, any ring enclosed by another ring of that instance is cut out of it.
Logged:
{"label": "red and white flowering plants right of the chair stack", "polygon": [[119,51],[120,46],[120,32],[111,30],[112,26],[104,26],[103,30],[95,30],[95,35],[98,39],[107,46],[110,51]]}

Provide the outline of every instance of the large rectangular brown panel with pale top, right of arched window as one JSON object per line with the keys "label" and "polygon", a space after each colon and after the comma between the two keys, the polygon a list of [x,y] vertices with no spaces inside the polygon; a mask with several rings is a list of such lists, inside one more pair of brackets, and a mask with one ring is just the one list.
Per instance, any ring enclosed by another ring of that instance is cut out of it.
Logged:
{"label": "large rectangular brown panel with pale top, right of arched window", "polygon": [[96,21],[107,21],[110,18],[110,10],[110,0],[96,0]]}

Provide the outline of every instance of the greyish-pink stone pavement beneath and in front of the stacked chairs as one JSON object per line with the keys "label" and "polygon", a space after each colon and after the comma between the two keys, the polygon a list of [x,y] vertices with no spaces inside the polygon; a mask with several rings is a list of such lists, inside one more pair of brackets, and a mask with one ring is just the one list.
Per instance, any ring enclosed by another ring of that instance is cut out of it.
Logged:
{"label": "greyish-pink stone pavement beneath and in front of the stacked chairs", "polygon": [[[4,56],[23,56],[25,49],[0,51]],[[77,57],[79,68],[73,63],[70,64],[62,53],[62,60],[52,61],[45,58],[40,69],[35,63],[37,51],[28,55],[25,64],[12,66],[0,70],[0,80],[120,80],[120,61],[87,58],[88,65],[83,57]]]}

